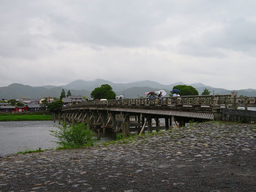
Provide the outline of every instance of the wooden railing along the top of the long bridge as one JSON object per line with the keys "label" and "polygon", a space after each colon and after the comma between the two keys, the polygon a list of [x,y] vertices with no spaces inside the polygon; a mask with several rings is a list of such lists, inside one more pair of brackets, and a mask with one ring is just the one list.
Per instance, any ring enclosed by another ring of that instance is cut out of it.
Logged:
{"label": "wooden railing along the top of the long bridge", "polygon": [[162,105],[162,106],[222,106],[225,108],[256,107],[256,97],[231,97],[226,95],[194,95],[180,97],[131,98],[119,100],[90,101],[64,107],[65,109],[82,106],[122,106],[122,105]]}

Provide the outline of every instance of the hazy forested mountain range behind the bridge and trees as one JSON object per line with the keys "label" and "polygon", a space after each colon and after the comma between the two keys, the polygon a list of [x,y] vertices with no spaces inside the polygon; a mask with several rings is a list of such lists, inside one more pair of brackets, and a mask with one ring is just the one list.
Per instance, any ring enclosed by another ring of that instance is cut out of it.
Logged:
{"label": "hazy forested mountain range behind the bridge and trees", "polygon": [[[90,97],[91,92],[96,88],[100,87],[102,84],[109,84],[113,91],[117,96],[124,95],[126,98],[138,98],[138,96],[145,96],[145,92],[151,91],[159,91],[164,90],[167,92],[167,95],[172,90],[172,87],[175,85],[184,85],[182,82],[176,82],[174,84],[164,85],[157,83],[155,81],[140,81],[134,83],[113,83],[111,81],[103,80],[103,79],[95,79],[93,81],[84,81],[84,80],[76,80],[69,84],[62,86],[54,86],[54,85],[46,85],[46,86],[38,86],[32,87],[29,85],[23,85],[18,83],[10,84],[6,87],[0,87],[0,99],[21,99],[22,97],[27,99],[37,99],[43,97],[57,97],[60,98],[60,94],[62,89],[65,90],[66,94],[68,90],[70,90],[72,95],[81,95]],[[194,83],[194,84],[185,84],[191,85],[196,88],[199,94],[203,92],[203,90],[209,89],[211,94],[231,94],[231,92],[237,92],[238,96],[256,96],[256,89],[242,89],[242,90],[227,90],[222,88],[215,88],[208,85],[204,85],[202,83]]]}

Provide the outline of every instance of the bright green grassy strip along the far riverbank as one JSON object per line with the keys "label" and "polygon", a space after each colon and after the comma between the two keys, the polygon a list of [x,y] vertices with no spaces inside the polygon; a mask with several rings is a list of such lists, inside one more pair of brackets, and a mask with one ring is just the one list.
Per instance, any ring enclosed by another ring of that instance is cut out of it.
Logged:
{"label": "bright green grassy strip along the far riverbank", "polygon": [[52,120],[48,111],[0,113],[0,121],[45,121]]}

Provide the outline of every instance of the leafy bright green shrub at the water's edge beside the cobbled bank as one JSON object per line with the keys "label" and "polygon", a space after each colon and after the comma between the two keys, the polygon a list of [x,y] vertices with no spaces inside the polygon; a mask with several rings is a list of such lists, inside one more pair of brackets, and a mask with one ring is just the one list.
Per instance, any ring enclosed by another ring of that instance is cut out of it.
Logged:
{"label": "leafy bright green shrub at the water's edge beside the cobbled bank", "polygon": [[95,139],[92,139],[93,133],[87,130],[86,123],[78,123],[72,126],[67,126],[62,123],[61,126],[54,125],[57,127],[57,131],[50,130],[51,135],[58,138],[58,141],[53,141],[58,145],[65,146],[65,148],[78,148],[86,145],[93,145]]}

